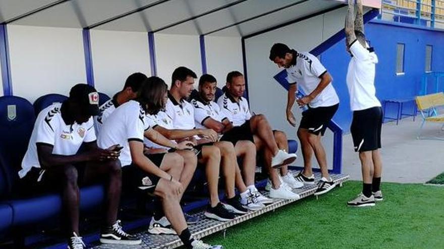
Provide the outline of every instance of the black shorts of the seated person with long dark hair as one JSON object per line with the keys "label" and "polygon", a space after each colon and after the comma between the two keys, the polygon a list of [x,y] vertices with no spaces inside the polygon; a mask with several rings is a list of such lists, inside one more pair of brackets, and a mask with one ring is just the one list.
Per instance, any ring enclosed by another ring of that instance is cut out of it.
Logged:
{"label": "black shorts of the seated person with long dark hair", "polygon": [[[163,157],[167,153],[147,154],[146,157],[150,159],[157,167],[160,167]],[[131,163],[122,168],[122,184],[125,191],[138,189],[144,192],[154,192],[160,178],[158,176],[149,174],[137,165]]]}

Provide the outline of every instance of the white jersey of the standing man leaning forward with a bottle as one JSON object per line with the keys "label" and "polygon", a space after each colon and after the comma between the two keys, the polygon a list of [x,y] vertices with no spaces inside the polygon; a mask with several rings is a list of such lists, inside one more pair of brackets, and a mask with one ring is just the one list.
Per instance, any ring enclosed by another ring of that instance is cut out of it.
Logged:
{"label": "white jersey of the standing man leaning forward with a bottle", "polygon": [[[296,64],[287,68],[287,80],[290,84],[297,83],[298,88],[300,87],[306,95],[309,95],[317,88],[322,75],[326,72],[327,70],[316,56],[302,52],[297,55]],[[334,106],[338,103],[338,95],[330,82],[308,105],[316,108]]]}

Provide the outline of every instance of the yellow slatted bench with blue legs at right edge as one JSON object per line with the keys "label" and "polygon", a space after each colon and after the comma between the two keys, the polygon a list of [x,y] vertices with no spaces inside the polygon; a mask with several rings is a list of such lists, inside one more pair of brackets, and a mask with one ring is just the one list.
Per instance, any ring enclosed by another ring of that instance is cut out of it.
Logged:
{"label": "yellow slatted bench with blue legs at right edge", "polygon": [[[424,96],[416,97],[416,104],[418,105],[418,110],[421,112],[422,123],[419,127],[417,139],[438,139],[444,140],[442,138],[430,138],[421,137],[421,130],[425,122],[433,123],[444,123],[444,114],[439,114],[437,107],[444,106],[444,93],[429,94]],[[444,130],[444,125],[441,126],[441,130]]]}

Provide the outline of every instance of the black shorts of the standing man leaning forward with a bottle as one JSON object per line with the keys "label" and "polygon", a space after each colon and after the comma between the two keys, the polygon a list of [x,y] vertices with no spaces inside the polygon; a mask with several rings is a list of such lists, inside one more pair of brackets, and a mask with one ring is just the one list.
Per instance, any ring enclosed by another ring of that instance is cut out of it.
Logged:
{"label": "black shorts of the standing man leaning forward with a bottle", "polygon": [[302,112],[302,120],[299,128],[307,129],[309,133],[323,136],[328,123],[338,111],[339,104],[334,106],[308,108]]}

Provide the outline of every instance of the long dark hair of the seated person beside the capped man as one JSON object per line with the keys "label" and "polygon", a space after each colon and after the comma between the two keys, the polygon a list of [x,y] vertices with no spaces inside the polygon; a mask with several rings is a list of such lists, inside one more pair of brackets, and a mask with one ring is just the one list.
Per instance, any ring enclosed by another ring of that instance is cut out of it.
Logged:
{"label": "long dark hair of the seated person beside the capped man", "polygon": [[140,91],[139,103],[146,113],[155,115],[165,106],[165,93],[168,86],[163,79],[157,76],[147,78]]}

